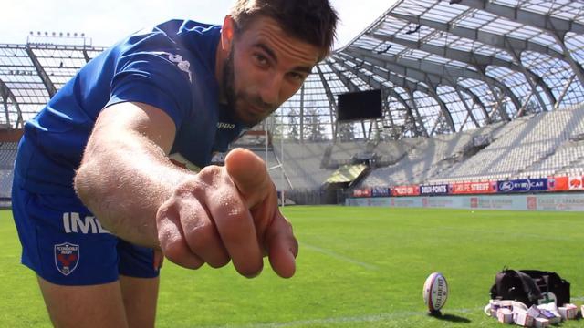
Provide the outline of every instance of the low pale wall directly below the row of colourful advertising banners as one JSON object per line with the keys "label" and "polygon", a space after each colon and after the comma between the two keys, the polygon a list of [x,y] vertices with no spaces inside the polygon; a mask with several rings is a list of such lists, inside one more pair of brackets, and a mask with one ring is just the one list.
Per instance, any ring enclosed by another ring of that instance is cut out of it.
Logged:
{"label": "low pale wall directly below the row of colourful advertising banners", "polygon": [[345,205],[463,210],[584,211],[584,194],[348,198]]}

